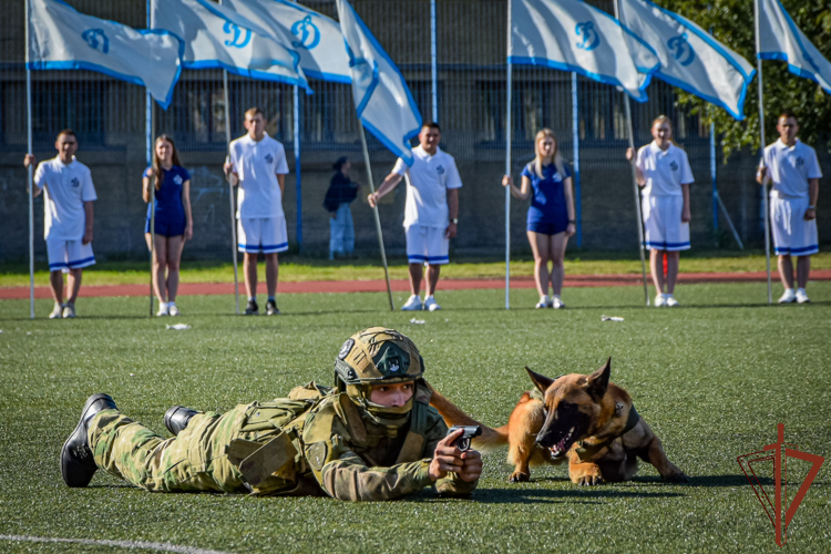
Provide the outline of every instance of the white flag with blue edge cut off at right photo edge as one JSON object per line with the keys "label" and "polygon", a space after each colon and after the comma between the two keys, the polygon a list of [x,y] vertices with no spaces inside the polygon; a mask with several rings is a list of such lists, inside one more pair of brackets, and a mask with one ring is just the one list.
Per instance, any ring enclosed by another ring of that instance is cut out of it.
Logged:
{"label": "white flag with blue edge cut off at right photo edge", "polygon": [[810,79],[831,94],[831,62],[797,27],[778,0],[758,0],[760,60],[788,62],[794,75]]}

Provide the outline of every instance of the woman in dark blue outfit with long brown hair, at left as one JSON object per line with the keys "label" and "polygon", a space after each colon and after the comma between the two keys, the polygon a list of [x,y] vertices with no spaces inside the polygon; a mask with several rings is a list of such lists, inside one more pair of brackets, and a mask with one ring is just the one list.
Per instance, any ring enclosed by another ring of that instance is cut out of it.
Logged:
{"label": "woman in dark blue outfit with long brown hair, at left", "polygon": [[[178,268],[185,240],[193,238],[191,213],[191,174],[178,161],[176,145],[167,135],[156,138],[153,165],[143,176],[142,197],[147,205],[147,224],[144,228],[147,248],[151,247],[150,186],[155,182],[156,218],[155,254],[153,257],[153,288],[158,298],[156,316],[178,316],[176,291]],[[165,276],[166,270],[166,276]]]}

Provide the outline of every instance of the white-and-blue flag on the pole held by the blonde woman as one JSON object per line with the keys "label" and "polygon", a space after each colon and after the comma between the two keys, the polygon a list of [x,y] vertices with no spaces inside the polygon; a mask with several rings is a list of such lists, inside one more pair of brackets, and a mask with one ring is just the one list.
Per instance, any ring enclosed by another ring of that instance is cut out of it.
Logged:
{"label": "white-and-blue flag on the pole held by the blonde woman", "polygon": [[[630,38],[630,41],[627,41]],[[579,0],[513,0],[507,62],[574,71],[638,102],[660,62],[619,21]]]}

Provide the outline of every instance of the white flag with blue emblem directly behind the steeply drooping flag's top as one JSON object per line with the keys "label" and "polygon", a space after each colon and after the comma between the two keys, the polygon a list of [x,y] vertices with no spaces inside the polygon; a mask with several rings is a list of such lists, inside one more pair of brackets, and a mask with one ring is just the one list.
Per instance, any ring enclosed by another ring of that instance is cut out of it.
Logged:
{"label": "white flag with blue emblem directly behind the steeply drooping flag's top", "polygon": [[270,31],[274,38],[297,51],[306,76],[336,83],[352,82],[349,57],[337,21],[286,0],[223,0],[223,6]]}

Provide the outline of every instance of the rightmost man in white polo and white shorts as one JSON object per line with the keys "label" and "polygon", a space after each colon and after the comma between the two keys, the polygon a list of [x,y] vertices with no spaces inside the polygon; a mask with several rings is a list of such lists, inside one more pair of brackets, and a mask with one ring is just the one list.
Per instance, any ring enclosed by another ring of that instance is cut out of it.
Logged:
{"label": "rightmost man in white polo and white shorts", "polygon": [[[779,277],[784,294],[779,304],[810,301],[806,293],[811,273],[811,255],[820,252],[817,235],[817,198],[822,172],[817,153],[797,138],[799,123],[792,112],[777,122],[779,140],[765,148],[756,179],[773,183],[770,191],[770,224],[779,256]],[[793,291],[793,263],[797,256],[797,291]]]}

